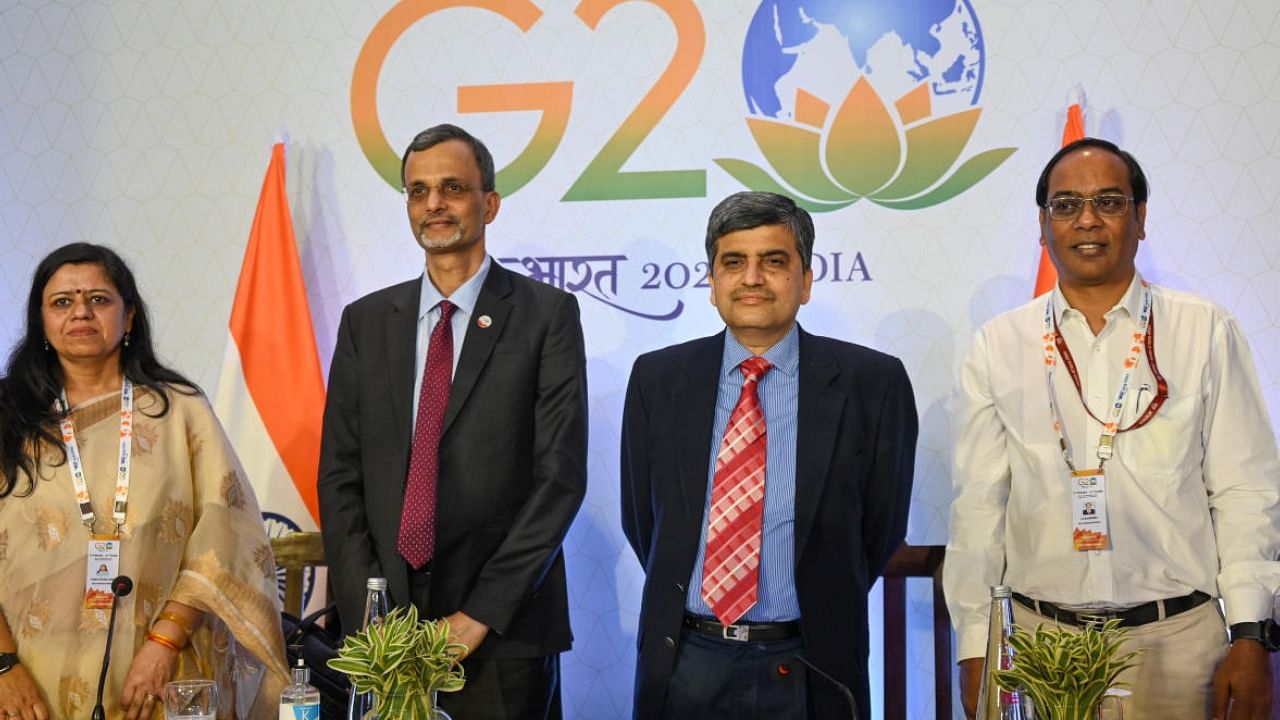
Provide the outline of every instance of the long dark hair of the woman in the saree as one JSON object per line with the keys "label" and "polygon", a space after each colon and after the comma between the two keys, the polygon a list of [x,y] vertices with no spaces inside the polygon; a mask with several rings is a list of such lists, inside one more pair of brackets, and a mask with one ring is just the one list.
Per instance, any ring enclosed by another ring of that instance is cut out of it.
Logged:
{"label": "long dark hair of the woman in the saree", "polygon": [[[63,457],[56,464],[67,461],[67,450],[58,430],[61,414],[55,407],[63,389],[63,366],[58,361],[58,354],[46,346],[41,313],[45,286],[63,265],[101,266],[120,293],[125,313],[133,310],[128,345],[120,347],[120,370],[133,384],[150,388],[160,398],[160,411],[154,416],[159,418],[169,411],[169,398],[163,386],[184,393],[200,392],[196,383],[156,359],[147,305],[138,295],[133,273],[119,255],[108,247],[87,242],[73,242],[54,250],[40,261],[31,278],[27,331],[9,354],[9,366],[4,378],[0,378],[0,498],[31,495],[36,487],[42,446],[49,445],[61,452]],[[27,484],[19,487],[19,477],[23,474]]]}

